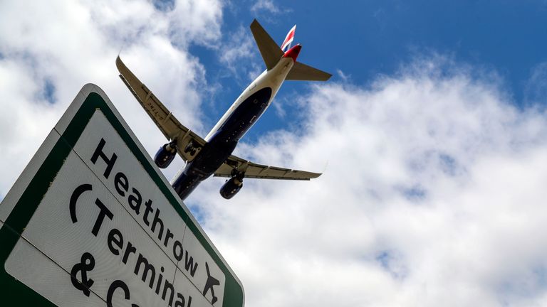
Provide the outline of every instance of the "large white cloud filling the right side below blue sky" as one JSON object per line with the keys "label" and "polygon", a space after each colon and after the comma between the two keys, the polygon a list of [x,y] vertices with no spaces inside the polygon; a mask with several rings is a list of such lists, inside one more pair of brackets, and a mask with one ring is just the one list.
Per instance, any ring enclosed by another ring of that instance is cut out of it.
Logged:
{"label": "large white cloud filling the right side below blue sky", "polygon": [[[443,62],[444,61],[444,62]],[[541,306],[547,121],[442,57],[303,97],[302,131],[239,154],[321,171],[193,197],[257,306]],[[495,76],[495,74],[494,74]],[[192,203],[192,196],[189,203]]]}

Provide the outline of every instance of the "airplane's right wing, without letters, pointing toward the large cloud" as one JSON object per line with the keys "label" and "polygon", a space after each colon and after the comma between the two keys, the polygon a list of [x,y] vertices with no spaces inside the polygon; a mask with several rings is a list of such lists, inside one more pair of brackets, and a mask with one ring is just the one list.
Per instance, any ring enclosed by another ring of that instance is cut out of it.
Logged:
{"label": "airplane's right wing, without letters, pointing toward the large cloud", "polygon": [[258,179],[285,179],[308,181],[312,178],[318,178],[321,173],[311,173],[308,171],[298,171],[288,168],[279,168],[276,166],[265,166],[231,155],[222,166],[214,172],[215,177],[231,177],[234,168],[243,172],[244,178]]}

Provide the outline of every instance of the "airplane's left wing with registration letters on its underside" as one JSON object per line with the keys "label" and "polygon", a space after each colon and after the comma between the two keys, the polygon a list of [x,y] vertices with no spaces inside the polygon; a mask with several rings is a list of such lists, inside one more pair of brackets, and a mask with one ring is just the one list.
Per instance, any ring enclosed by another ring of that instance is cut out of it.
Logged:
{"label": "airplane's left wing with registration letters on its underside", "polygon": [[[177,141],[177,151],[179,156],[184,161],[192,161],[199,150],[207,144],[199,135],[183,126],[173,114],[165,107],[160,99],[152,94],[142,82],[125,66],[120,57],[116,59],[116,66],[120,71],[120,78],[123,80],[127,88],[132,92],[137,101],[142,105],[145,111],[150,115],[152,121],[155,122],[160,131],[170,141]],[[195,151],[184,152],[188,144],[192,143],[196,148]]]}

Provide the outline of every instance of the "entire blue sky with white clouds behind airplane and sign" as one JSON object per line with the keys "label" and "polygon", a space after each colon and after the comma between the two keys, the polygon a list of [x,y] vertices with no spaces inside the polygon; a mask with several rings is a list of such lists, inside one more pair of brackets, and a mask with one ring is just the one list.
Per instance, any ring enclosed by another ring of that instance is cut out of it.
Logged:
{"label": "entire blue sky with white clouds behind airplane and sign", "polygon": [[165,143],[118,54],[207,134],[264,70],[253,18],[333,77],[286,82],[236,149],[320,178],[185,201],[246,306],[547,306],[544,0],[0,1],[0,198],[85,83]]}

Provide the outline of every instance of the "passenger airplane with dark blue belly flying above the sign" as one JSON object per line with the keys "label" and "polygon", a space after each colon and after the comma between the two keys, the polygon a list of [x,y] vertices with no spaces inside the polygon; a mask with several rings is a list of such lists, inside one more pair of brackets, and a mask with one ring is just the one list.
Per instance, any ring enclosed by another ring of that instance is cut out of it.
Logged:
{"label": "passenger airplane with dark blue belly flying above the sign", "polygon": [[210,176],[229,178],[219,191],[226,199],[234,197],[241,190],[243,178],[302,181],[321,176],[321,173],[261,165],[232,155],[241,137],[269,107],[284,80],[326,81],[331,76],[328,72],[296,62],[302,48],[300,44],[291,47],[296,26],[288,32],[281,47],[256,19],[250,28],[266,70],[241,92],[204,139],[180,124],[152,91],[125,66],[119,55],[116,59],[120,78],[169,140],[157,151],[154,158],[156,165],[167,168],[177,154],[186,162],[171,182],[182,200]]}

